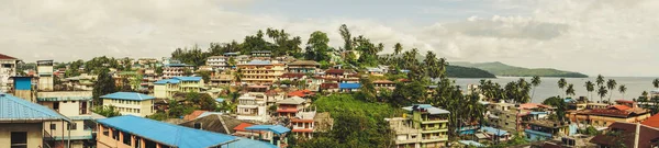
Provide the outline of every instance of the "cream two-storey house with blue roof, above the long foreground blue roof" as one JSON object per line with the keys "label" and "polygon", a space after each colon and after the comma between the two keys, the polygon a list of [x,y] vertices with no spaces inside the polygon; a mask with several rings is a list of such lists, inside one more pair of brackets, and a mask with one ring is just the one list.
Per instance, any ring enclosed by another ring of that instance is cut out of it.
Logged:
{"label": "cream two-storey house with blue roof, above the long foreground blue roof", "polygon": [[147,116],[155,113],[154,96],[137,92],[115,92],[100,96],[103,107],[114,106],[122,115]]}

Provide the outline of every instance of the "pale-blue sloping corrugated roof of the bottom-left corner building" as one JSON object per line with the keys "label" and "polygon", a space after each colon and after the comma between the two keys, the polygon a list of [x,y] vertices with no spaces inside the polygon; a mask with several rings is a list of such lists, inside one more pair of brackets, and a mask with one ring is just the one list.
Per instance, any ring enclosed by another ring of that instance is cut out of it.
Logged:
{"label": "pale-blue sloping corrugated roof of the bottom-left corner building", "polygon": [[66,116],[46,106],[32,103],[11,94],[0,93],[0,121],[21,119],[65,119],[70,122]]}

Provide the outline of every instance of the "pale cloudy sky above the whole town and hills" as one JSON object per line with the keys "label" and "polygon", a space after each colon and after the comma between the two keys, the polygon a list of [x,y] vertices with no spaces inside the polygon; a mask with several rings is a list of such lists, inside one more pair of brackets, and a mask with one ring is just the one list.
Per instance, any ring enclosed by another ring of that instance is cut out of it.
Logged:
{"label": "pale cloudy sky above the whole town and hills", "polygon": [[[26,62],[165,57],[268,27],[340,46],[340,24],[384,53],[590,76],[659,76],[657,0],[0,0],[0,53]],[[302,45],[304,46],[304,45]]]}

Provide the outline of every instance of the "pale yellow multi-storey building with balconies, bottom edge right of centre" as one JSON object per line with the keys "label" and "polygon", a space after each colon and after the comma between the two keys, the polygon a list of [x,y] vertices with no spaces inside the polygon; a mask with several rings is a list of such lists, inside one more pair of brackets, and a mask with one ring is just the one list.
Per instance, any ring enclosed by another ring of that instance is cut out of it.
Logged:
{"label": "pale yellow multi-storey building with balconies, bottom edge right of centre", "polygon": [[403,117],[386,118],[395,132],[395,145],[401,148],[444,147],[448,141],[450,112],[429,104],[403,107]]}

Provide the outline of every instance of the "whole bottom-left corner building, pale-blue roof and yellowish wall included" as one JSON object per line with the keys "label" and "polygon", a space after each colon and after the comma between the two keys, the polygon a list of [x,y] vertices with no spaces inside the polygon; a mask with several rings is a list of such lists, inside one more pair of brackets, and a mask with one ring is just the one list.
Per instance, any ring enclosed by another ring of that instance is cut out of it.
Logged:
{"label": "whole bottom-left corner building, pale-blue roof and yellowish wall included", "polygon": [[53,137],[44,133],[45,122],[70,123],[71,121],[45,106],[0,93],[0,148],[53,146],[48,140]]}

